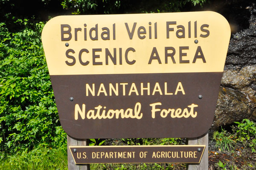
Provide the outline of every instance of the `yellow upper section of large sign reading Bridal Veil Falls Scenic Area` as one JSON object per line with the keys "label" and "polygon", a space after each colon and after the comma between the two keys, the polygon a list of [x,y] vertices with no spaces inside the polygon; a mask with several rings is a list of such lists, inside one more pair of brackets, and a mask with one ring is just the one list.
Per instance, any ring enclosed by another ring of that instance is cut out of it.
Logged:
{"label": "yellow upper section of large sign reading Bridal Veil Falls Scenic Area", "polygon": [[42,32],[50,75],[223,72],[229,39],[215,12],[58,16]]}

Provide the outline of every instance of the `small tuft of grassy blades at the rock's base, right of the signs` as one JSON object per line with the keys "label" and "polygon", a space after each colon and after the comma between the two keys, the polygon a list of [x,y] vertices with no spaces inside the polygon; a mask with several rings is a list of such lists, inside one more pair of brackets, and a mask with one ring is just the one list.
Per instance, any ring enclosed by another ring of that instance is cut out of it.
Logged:
{"label": "small tuft of grassy blades at the rock's base, right of the signs", "polygon": [[233,140],[233,136],[227,133],[227,130],[221,128],[221,132],[215,131],[213,138],[216,140],[216,147],[221,151],[227,150],[233,152],[234,145],[236,144]]}

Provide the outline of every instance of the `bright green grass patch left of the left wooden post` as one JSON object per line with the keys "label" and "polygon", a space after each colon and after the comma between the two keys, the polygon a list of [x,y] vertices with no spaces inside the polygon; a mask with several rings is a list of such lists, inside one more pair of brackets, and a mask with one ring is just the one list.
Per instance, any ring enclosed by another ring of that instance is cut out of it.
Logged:
{"label": "bright green grass patch left of the left wooden post", "polygon": [[30,152],[6,155],[1,170],[67,170],[67,145],[56,149],[37,147]]}

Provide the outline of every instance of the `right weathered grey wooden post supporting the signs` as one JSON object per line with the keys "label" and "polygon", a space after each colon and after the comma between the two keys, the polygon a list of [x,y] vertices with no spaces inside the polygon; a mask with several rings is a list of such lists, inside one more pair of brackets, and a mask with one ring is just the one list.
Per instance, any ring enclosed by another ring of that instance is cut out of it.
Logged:
{"label": "right weathered grey wooden post supporting the signs", "polygon": [[200,164],[187,164],[187,170],[208,170],[208,132],[198,138],[188,138],[189,145],[204,144],[205,150]]}

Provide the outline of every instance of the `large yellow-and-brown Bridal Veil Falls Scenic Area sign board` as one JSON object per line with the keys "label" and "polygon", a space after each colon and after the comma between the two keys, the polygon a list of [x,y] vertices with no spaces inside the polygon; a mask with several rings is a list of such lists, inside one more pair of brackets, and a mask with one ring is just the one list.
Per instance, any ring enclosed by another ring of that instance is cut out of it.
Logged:
{"label": "large yellow-and-brown Bridal Veil Falls Scenic Area sign board", "polygon": [[62,127],[80,139],[203,135],[229,39],[215,12],[51,19],[42,41]]}

